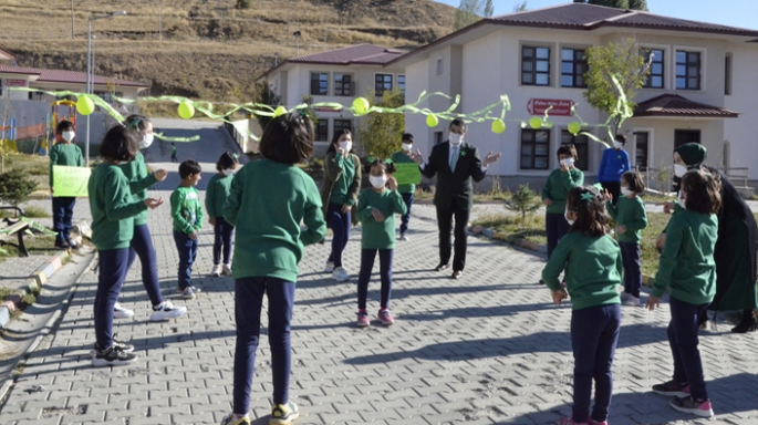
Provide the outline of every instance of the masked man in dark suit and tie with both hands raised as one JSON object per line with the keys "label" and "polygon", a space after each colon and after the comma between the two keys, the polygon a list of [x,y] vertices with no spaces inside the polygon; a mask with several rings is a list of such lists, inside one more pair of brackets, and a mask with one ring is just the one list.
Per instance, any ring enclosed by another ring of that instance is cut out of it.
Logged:
{"label": "masked man in dark suit and tie with both hands raised", "polygon": [[449,129],[449,141],[433,147],[426,164],[418,149],[413,159],[425,177],[432,178],[437,175],[437,190],[434,195],[439,228],[439,265],[435,268],[437,271],[450,266],[450,228],[455,216],[455,258],[451,278],[458,279],[466,267],[466,226],[474,204],[471,179],[481,182],[489,165],[500,159],[500,154],[492,155],[490,152],[482,162],[479,159],[479,151],[464,143],[466,124],[463,121],[454,120]]}

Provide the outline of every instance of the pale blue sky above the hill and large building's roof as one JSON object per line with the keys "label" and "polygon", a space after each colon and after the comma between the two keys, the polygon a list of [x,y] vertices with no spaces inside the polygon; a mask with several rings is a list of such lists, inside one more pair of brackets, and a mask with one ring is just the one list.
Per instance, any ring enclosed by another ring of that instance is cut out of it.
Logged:
{"label": "pale blue sky above the hill and large building's roof", "polygon": [[[458,7],[460,0],[436,0]],[[540,9],[569,3],[572,0],[528,0],[527,9]],[[495,14],[512,13],[517,0],[494,0]],[[686,4],[686,7],[685,7]],[[728,4],[728,6],[726,6]],[[647,0],[651,13],[672,18],[689,19],[723,25],[758,30],[758,1],[756,0]]]}

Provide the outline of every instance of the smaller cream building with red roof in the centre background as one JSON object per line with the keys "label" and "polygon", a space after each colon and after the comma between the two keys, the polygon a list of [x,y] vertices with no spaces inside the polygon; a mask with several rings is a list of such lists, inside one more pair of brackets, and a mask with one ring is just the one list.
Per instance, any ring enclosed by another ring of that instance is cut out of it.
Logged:
{"label": "smaller cream building with red roof in the centre background", "polygon": [[[308,95],[313,103],[338,102],[351,106],[355,97],[366,96],[371,90],[377,97],[395,87],[405,92],[404,68],[386,65],[403,53],[374,44],[356,44],[289,59],[259,81],[266,81],[288,108],[303,103],[303,96]],[[316,113],[315,155],[322,156],[332,135],[342,128],[351,129],[357,138],[360,118],[352,113],[329,107],[316,107]]]}

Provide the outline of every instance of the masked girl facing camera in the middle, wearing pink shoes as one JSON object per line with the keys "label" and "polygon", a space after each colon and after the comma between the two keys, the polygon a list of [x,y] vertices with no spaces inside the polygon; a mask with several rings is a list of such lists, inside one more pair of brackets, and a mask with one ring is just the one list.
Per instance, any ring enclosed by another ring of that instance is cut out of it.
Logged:
{"label": "masked girl facing camera in the middle, wearing pink shoes", "polygon": [[366,313],[368,280],[374,268],[376,252],[380,256],[380,276],[382,279],[382,302],[378,319],[388,326],[395,323],[390,313],[392,297],[392,259],[395,252],[395,214],[404,215],[407,210],[405,200],[397,191],[397,180],[390,176],[395,173],[395,164],[377,159],[366,165],[372,188],[365,189],[357,198],[357,219],[363,225],[361,238],[361,272],[357,278],[357,325],[371,324]]}

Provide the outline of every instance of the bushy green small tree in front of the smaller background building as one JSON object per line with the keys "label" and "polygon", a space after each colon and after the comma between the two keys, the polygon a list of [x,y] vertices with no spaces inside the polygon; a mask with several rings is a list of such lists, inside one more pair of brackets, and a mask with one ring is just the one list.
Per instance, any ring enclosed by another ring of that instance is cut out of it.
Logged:
{"label": "bushy green small tree in front of the smaller background building", "polygon": [[[403,93],[395,87],[382,94],[376,103],[376,94],[372,90],[366,96],[371,105],[384,107],[403,106]],[[403,114],[370,114],[359,127],[357,144],[363,154],[374,158],[388,158],[399,151],[403,133],[405,133],[405,117]]]}

